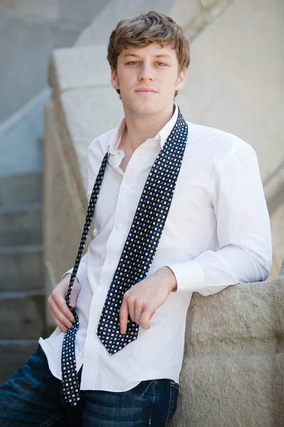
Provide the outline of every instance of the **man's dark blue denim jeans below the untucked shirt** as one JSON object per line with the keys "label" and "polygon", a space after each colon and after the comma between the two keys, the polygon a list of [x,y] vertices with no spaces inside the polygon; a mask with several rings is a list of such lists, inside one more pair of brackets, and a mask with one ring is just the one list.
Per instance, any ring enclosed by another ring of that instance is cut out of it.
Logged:
{"label": "man's dark blue denim jeans below the untucked shirt", "polygon": [[[80,380],[82,368],[78,372]],[[141,381],[129,391],[81,391],[79,408],[65,406],[61,381],[51,374],[43,349],[0,386],[1,427],[163,427],[173,418],[179,385]]]}

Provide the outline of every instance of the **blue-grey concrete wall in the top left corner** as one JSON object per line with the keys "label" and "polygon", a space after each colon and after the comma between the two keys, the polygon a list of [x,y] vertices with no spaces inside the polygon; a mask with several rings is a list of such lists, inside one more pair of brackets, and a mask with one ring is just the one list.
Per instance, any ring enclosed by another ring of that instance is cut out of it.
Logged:
{"label": "blue-grey concrete wall in the top left corner", "polygon": [[55,48],[72,46],[109,0],[0,0],[0,124],[46,88]]}

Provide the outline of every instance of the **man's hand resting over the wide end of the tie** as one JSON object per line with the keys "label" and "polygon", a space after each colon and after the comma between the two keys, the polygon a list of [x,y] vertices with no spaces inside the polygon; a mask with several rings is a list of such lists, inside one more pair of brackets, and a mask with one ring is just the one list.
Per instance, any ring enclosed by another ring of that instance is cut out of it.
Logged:
{"label": "man's hand resting over the wide end of the tie", "polygon": [[163,267],[127,290],[119,312],[121,334],[126,333],[129,315],[133,322],[141,325],[143,329],[149,329],[149,321],[155,310],[165,302],[170,292],[176,289],[176,285],[173,271]]}

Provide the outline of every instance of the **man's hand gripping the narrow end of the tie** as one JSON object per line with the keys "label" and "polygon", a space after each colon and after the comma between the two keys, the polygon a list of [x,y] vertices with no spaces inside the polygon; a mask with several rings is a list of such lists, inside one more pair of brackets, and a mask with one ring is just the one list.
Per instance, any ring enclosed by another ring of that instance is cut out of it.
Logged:
{"label": "man's hand gripping the narrow end of the tie", "polygon": [[[48,298],[48,305],[50,307],[53,320],[62,332],[66,332],[67,328],[72,328],[72,322],[74,322],[74,316],[68,308],[65,299],[69,288],[70,276],[70,273],[65,275],[61,282],[55,286],[53,292],[51,292],[51,295]],[[78,279],[75,278],[70,296],[70,305],[72,308],[76,307],[77,296],[79,295],[80,290],[81,285],[78,282]]]}

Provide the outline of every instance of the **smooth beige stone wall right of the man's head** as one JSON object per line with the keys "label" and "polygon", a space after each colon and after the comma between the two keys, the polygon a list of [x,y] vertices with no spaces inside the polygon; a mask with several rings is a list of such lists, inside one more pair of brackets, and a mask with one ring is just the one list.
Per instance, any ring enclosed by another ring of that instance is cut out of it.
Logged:
{"label": "smooth beige stone wall right of the man's head", "polygon": [[184,95],[192,121],[238,135],[258,154],[263,181],[283,162],[281,0],[235,0],[191,43]]}

